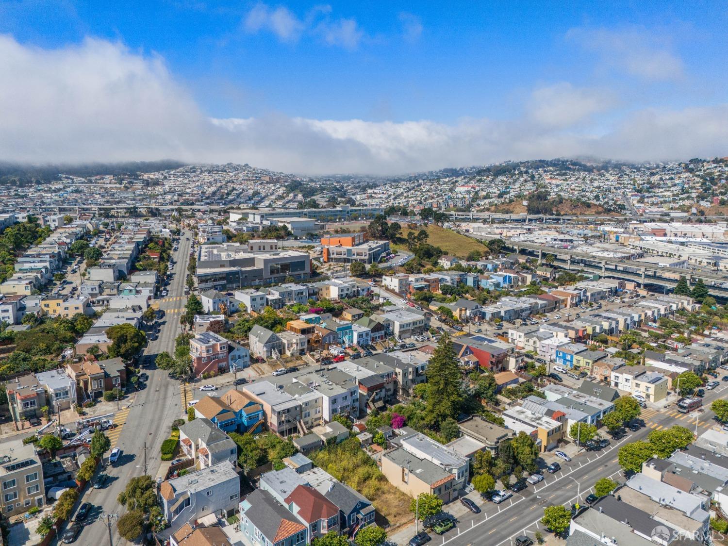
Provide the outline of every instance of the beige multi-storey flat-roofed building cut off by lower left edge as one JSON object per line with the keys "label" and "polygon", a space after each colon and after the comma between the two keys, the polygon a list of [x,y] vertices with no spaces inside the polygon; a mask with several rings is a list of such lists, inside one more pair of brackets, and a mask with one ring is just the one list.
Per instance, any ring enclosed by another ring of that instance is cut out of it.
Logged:
{"label": "beige multi-storey flat-roofed building cut off by lower left edge", "polygon": [[43,507],[43,467],[35,445],[22,440],[3,440],[0,454],[0,510],[7,517]]}

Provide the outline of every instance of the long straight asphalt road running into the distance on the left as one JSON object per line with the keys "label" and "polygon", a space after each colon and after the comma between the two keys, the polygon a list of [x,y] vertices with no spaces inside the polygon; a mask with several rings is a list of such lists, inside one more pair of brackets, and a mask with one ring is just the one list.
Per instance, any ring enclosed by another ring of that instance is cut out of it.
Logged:
{"label": "long straight asphalt road running into the distance on the left", "polygon": [[[159,300],[159,308],[165,311],[159,338],[150,341],[144,355],[155,355],[162,351],[174,352],[175,337],[180,333],[178,309],[183,308],[186,298],[183,296],[189,263],[190,232],[183,232],[180,237],[179,250],[173,253],[175,259],[174,276],[167,287],[169,296]],[[167,372],[156,369],[146,370],[149,381],[145,389],[136,393],[135,400],[129,408],[126,422],[116,447],[121,448],[122,456],[106,473],[109,480],[103,489],[89,488],[82,499],[94,506],[87,523],[79,535],[77,542],[84,545],[106,545],[109,543],[106,517],[103,514],[123,515],[126,510],[116,502],[116,497],[123,491],[131,478],[144,474],[144,444],[146,443],[146,473],[152,477],[157,475],[160,464],[160,447],[162,440],[169,437],[170,427],[183,411],[181,407],[180,384],[167,376]],[[112,443],[113,447],[113,443]],[[124,545],[125,539],[116,534],[116,525],[112,526],[111,544]]]}

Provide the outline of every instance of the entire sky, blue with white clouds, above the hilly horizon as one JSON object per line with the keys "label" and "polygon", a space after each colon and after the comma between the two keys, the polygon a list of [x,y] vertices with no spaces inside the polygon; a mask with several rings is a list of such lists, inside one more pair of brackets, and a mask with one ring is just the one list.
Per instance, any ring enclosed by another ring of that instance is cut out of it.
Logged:
{"label": "entire sky, blue with white clouds, above the hilly horizon", "polygon": [[726,155],[727,19],[722,1],[4,1],[0,159]]}

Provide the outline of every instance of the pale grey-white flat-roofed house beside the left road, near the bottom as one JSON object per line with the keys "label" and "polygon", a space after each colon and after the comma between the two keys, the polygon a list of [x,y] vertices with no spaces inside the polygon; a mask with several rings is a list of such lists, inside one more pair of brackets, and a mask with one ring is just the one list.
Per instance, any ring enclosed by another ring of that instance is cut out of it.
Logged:
{"label": "pale grey-white flat-roofed house beside the left road, near the bottom", "polygon": [[175,533],[206,515],[232,514],[240,497],[240,477],[229,461],[165,480],[159,485],[159,505]]}

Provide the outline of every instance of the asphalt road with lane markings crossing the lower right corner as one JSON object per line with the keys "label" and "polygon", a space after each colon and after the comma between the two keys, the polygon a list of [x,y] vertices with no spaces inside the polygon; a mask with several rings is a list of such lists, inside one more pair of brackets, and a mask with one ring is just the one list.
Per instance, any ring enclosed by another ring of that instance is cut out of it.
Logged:
{"label": "asphalt road with lane markings crossing the lower right corner", "polygon": [[[721,384],[705,396],[705,411],[697,414],[698,435],[708,428],[717,426],[713,419],[714,414],[709,409],[713,400],[725,396],[727,384]],[[442,538],[432,534],[433,545],[448,544],[451,546],[470,546],[487,544],[500,546],[511,544],[515,537],[527,534],[534,539],[534,533],[540,531],[544,537],[549,534],[539,520],[543,516],[543,509],[550,505],[566,505],[579,502],[585,505],[585,497],[593,493],[593,485],[599,478],[611,477],[620,483],[625,482],[625,475],[617,462],[618,449],[625,445],[644,438],[652,430],[660,430],[679,424],[695,432],[696,412],[689,415],[676,416],[673,406],[657,411],[644,411],[644,426],[636,432],[630,432],[620,440],[611,440],[612,445],[603,451],[582,451],[573,457],[571,462],[559,461],[561,472],[551,475],[544,472],[545,480],[536,486],[529,487],[513,496],[500,505],[492,502],[479,502],[483,510],[480,514],[468,514],[456,523]],[[553,458],[553,456],[548,455]],[[551,459],[549,459],[550,461]],[[558,459],[554,459],[558,460]],[[446,509],[447,510],[447,509]],[[534,543],[535,543],[534,539]]]}

